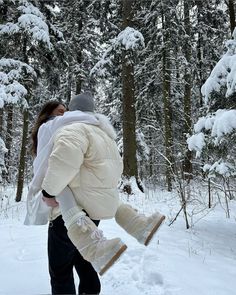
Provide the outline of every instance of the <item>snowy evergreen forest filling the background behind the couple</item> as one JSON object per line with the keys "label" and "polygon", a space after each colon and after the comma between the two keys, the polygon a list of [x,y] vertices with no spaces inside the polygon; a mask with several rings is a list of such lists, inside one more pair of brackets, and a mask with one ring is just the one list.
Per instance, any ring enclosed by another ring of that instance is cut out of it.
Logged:
{"label": "snowy evergreen forest filling the background behind the couple", "polygon": [[198,185],[208,208],[219,196],[229,215],[235,9],[234,0],[0,0],[0,194],[12,186],[20,202],[32,179],[42,105],[90,90],[118,135],[121,191],[176,191],[189,228]]}

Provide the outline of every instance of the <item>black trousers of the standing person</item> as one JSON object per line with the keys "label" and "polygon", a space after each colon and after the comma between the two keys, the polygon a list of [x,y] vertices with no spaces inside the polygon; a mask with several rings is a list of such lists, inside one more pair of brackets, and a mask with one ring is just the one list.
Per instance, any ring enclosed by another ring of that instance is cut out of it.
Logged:
{"label": "black trousers of the standing person", "polygon": [[[94,222],[96,225],[99,223],[99,221]],[[79,294],[100,293],[98,274],[72,244],[61,216],[49,224],[48,262],[52,294],[76,294],[73,267],[80,280]]]}

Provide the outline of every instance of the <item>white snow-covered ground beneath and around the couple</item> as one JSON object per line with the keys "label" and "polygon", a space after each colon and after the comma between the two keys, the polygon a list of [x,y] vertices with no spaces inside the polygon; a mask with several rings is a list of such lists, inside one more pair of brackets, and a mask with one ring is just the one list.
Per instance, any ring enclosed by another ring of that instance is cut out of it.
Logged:
{"label": "white snow-covered ground beneath and around the couple", "polygon": [[[11,191],[7,195],[0,201],[0,295],[49,294],[47,226],[24,226],[25,203],[14,204]],[[101,277],[102,295],[236,294],[236,202],[230,203],[230,219],[217,205],[207,214],[205,210],[194,215],[193,221],[199,221],[186,230],[182,216],[168,226],[179,210],[177,199],[163,191],[130,198],[142,213],[159,210],[167,216],[148,247],[139,245],[114,220],[101,223],[107,237],[119,236],[128,245]]]}

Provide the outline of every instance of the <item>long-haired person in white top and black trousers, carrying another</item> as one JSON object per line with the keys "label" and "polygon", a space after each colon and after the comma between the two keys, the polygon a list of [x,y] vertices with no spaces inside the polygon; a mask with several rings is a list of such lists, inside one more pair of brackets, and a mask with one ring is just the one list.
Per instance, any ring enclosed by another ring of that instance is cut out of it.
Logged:
{"label": "long-haired person in white top and black trousers, carrying another", "polygon": [[[53,135],[60,127],[73,120],[87,122],[88,115],[82,112],[66,112],[59,101],[48,101],[38,114],[32,130],[32,154],[34,177],[27,196],[26,225],[48,226],[48,269],[52,294],[76,294],[74,270],[79,276],[78,294],[99,294],[101,283],[97,272],[85,260],[68,237],[59,204],[55,199],[42,197],[41,185],[52,149]],[[64,115],[64,116],[63,116]],[[97,120],[91,121],[96,124]],[[63,199],[63,197],[61,198]],[[69,204],[70,204],[70,200]],[[66,204],[68,203],[66,202]],[[48,206],[47,206],[48,205]],[[62,206],[63,207],[63,206]],[[96,225],[98,220],[94,220]]]}

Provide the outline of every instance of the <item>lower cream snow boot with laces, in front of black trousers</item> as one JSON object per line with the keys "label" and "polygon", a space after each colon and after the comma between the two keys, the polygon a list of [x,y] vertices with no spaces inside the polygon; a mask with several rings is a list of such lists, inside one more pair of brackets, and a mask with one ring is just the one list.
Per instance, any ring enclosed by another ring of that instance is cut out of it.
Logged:
{"label": "lower cream snow boot with laces, in front of black trousers", "polygon": [[107,240],[87,216],[80,216],[68,228],[68,236],[84,259],[103,275],[127,249],[119,238]]}

